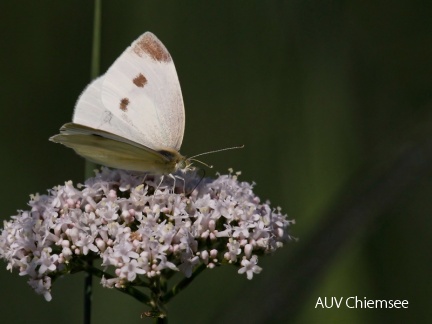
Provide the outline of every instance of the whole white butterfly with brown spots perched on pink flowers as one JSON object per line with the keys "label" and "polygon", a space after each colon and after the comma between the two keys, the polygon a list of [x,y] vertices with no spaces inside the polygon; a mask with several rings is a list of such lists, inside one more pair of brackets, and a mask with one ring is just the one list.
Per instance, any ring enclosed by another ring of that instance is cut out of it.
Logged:
{"label": "whole white butterfly with brown spots perched on pink flowers", "polygon": [[146,32],[81,94],[72,123],[51,141],[109,167],[171,174],[191,168],[179,153],[185,112],[174,62]]}

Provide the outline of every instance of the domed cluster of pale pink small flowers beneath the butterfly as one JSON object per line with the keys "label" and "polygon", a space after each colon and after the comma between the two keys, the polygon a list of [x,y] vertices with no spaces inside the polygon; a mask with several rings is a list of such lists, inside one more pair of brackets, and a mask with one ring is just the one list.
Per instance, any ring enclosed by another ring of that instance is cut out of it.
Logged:
{"label": "domed cluster of pale pink small flowers beneath the butterfly", "polygon": [[109,288],[168,271],[190,277],[199,264],[231,263],[252,279],[261,271],[258,255],[289,240],[292,221],[237,177],[232,171],[209,179],[103,168],[84,185],[69,181],[31,196],[30,210],[4,222],[0,257],[7,269],[28,275],[47,300],[52,279],[90,256],[114,273],[102,278]]}

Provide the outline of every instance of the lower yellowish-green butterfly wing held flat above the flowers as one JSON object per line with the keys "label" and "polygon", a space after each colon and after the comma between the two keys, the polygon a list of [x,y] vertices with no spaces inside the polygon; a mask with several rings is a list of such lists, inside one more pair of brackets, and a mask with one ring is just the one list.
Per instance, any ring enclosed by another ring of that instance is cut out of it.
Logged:
{"label": "lower yellowish-green butterfly wing held flat above the flowers", "polygon": [[124,137],[83,125],[68,123],[50,138],[74,149],[97,164],[133,171],[167,174],[184,158],[175,150],[155,151]]}

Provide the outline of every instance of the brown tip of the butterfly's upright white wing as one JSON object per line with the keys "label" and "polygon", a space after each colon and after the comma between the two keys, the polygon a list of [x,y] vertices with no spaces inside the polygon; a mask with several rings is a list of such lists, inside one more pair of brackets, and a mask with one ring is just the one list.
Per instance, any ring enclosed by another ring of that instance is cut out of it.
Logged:
{"label": "brown tip of the butterfly's upright white wing", "polygon": [[132,44],[132,50],[140,57],[148,55],[158,62],[170,62],[172,60],[171,55],[164,44],[162,44],[162,42],[150,32],[141,35]]}

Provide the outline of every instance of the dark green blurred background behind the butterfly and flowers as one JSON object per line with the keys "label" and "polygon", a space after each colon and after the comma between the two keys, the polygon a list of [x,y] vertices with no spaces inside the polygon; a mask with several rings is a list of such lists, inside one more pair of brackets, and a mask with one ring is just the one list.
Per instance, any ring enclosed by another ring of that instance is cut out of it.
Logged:
{"label": "dark green blurred background behind the butterfly and flowers", "polygon": [[[432,319],[428,156],[416,157],[424,171],[411,175],[408,167],[396,177],[409,186],[375,197],[384,206],[362,208],[370,201],[364,191],[395,178],[398,154],[431,138],[431,13],[430,1],[410,0],[103,3],[101,70],[141,33],[155,33],[183,90],[182,153],[244,144],[205,161],[214,171],[241,170],[263,200],[297,222],[299,242],[261,258],[264,270],[252,281],[233,267],[205,271],[168,305],[170,323]],[[0,18],[1,218],[8,219],[27,208],[29,194],[83,180],[83,159],[48,137],[70,121],[89,82],[93,2],[1,0]],[[333,216],[345,224],[345,205],[359,206],[358,226],[326,227]],[[316,233],[328,247],[310,240]],[[305,264],[315,270],[302,272]],[[56,282],[48,303],[5,267],[3,323],[81,322],[82,275]],[[292,278],[297,288],[284,290]],[[150,322],[140,320],[146,308],[138,302],[95,284],[93,323]],[[349,296],[406,299],[409,309],[315,309],[318,297]],[[275,308],[266,313],[263,304]]]}

